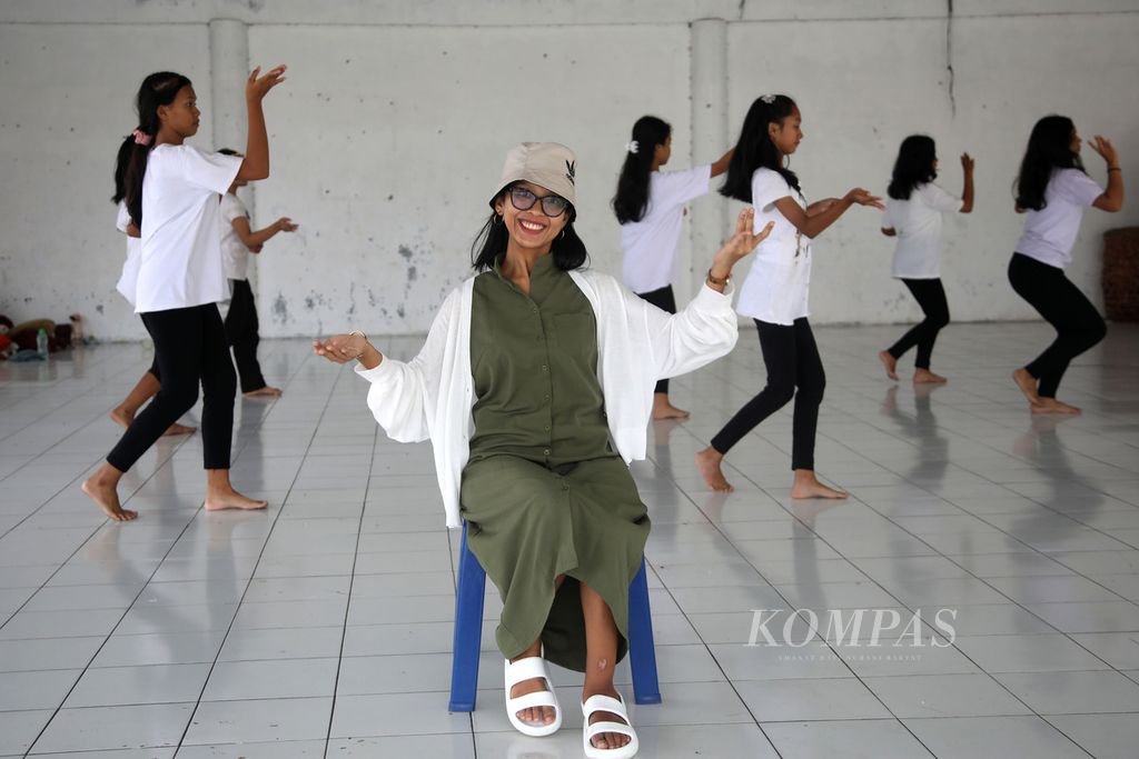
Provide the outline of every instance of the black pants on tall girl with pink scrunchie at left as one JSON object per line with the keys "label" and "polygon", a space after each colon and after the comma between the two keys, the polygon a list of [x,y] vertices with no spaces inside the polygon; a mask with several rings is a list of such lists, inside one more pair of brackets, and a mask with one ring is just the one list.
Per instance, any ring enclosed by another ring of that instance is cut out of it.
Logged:
{"label": "black pants on tall girl with pink scrunchie at left", "polygon": [[203,460],[206,469],[229,469],[233,436],[237,379],[226,345],[218,306],[151,311],[142,314],[158,360],[162,389],[126,428],[107,455],[107,463],[125,472],[166,429],[198,401],[202,410]]}

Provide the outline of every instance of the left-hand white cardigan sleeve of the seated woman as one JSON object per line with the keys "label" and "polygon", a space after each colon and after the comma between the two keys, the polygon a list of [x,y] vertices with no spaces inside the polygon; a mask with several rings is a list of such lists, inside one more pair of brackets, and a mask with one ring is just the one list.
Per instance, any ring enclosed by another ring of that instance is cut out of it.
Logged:
{"label": "left-hand white cardigan sleeve of the seated woman", "polygon": [[459,300],[459,290],[443,300],[424,347],[411,361],[384,356],[375,369],[357,364],[357,374],[371,382],[368,409],[393,440],[418,443],[431,437],[428,409],[437,406],[448,338]]}

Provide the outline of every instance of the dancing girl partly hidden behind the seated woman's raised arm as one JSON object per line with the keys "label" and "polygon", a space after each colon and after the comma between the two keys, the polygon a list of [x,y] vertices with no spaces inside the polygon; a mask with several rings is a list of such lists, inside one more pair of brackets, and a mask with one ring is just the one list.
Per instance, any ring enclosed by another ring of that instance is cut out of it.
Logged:
{"label": "dancing girl partly hidden behind the seated woman's raised arm", "polygon": [[[672,156],[672,126],[656,116],[641,116],[625,146],[613,212],[621,223],[625,287],[670,314],[677,313],[672,282],[677,279],[685,204],[707,195],[711,179],[728,171],[731,150],[714,164],[687,171],[662,172]],[[687,419],[688,412],[669,402],[669,380],[656,383],[653,419]]]}

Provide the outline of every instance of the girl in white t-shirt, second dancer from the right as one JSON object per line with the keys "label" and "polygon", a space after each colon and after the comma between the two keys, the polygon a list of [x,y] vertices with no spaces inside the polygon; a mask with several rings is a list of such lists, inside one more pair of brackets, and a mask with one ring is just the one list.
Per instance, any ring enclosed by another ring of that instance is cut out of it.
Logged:
{"label": "girl in white t-shirt, second dancer from the right", "polygon": [[894,174],[886,191],[890,199],[882,218],[882,233],[898,237],[893,275],[913,294],[925,319],[898,343],[878,353],[890,379],[898,379],[898,360],[917,346],[913,381],[919,385],[945,381],[929,370],[929,362],[937,332],[949,324],[949,303],[941,284],[941,215],[973,211],[973,158],[967,152],[961,155],[961,168],[965,170],[965,190],[962,197],[956,198],[934,183],[937,146],[933,138],[911,134],[902,140],[898,150]]}

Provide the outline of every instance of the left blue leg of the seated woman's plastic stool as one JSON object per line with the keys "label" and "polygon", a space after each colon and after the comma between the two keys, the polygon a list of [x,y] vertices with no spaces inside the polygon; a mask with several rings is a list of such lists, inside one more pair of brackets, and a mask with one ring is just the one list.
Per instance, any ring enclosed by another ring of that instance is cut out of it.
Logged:
{"label": "left blue leg of the seated woman's plastic stool", "polygon": [[454,643],[451,649],[451,711],[474,711],[478,685],[478,650],[483,636],[483,592],[486,572],[467,547],[462,526],[459,546],[459,588],[454,597]]}

